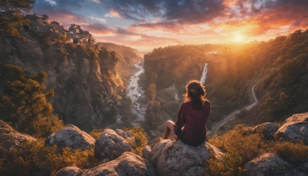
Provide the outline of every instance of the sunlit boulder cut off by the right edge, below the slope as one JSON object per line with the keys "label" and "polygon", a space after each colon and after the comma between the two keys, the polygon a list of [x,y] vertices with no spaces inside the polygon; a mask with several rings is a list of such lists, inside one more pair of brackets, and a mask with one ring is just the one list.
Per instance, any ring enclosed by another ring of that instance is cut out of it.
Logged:
{"label": "sunlit boulder cut off by the right edge, below the slope", "polygon": [[278,138],[297,142],[303,140],[308,144],[308,112],[294,114],[287,118],[276,132]]}

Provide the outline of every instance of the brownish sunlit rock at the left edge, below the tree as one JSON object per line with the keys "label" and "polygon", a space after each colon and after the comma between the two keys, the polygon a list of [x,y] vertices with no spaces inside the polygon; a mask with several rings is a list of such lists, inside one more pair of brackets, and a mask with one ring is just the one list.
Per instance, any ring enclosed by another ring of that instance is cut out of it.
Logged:
{"label": "brownish sunlit rock at the left edge, below the tree", "polygon": [[35,138],[14,130],[9,124],[0,120],[0,153],[1,150],[22,149],[21,144],[27,141],[36,141]]}

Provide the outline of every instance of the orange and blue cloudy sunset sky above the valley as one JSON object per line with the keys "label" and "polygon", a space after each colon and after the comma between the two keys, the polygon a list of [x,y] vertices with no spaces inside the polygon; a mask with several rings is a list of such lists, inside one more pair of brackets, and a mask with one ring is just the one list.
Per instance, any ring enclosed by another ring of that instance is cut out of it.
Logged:
{"label": "orange and blue cloudy sunset sky above the valley", "polygon": [[168,45],[267,41],[308,28],[308,0],[36,0],[31,12],[142,56]]}

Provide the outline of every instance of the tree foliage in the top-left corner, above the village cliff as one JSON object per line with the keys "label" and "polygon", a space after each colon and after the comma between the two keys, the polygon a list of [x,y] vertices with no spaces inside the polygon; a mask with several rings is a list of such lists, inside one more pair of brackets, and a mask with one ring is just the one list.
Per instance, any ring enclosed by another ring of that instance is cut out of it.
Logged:
{"label": "tree foliage in the top-left corner, above the village cliff", "polygon": [[35,0],[3,0],[0,1],[0,34],[10,35],[26,40],[21,35],[23,26],[30,23],[23,17],[22,11],[30,11]]}

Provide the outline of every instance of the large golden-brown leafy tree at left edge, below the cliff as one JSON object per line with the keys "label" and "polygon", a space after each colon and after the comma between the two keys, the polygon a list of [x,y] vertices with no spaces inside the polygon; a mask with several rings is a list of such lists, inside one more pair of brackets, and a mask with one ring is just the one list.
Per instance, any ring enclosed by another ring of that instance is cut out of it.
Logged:
{"label": "large golden-brown leafy tree at left edge, below the cliff", "polygon": [[47,99],[53,90],[45,91],[44,71],[28,76],[18,66],[0,63],[0,119],[18,131],[45,137],[63,127]]}

